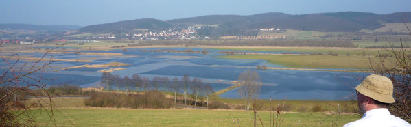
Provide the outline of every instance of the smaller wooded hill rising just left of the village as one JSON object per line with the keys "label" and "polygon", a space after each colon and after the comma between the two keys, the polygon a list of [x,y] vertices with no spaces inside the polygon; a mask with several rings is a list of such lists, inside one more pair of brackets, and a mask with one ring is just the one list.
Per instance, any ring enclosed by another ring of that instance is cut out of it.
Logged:
{"label": "smaller wooded hill rising just left of the village", "polygon": [[165,21],[145,18],[101,25],[89,25],[79,29],[79,31],[89,33],[120,33],[121,31],[133,31],[134,29],[161,29],[170,27],[172,27],[172,25]]}

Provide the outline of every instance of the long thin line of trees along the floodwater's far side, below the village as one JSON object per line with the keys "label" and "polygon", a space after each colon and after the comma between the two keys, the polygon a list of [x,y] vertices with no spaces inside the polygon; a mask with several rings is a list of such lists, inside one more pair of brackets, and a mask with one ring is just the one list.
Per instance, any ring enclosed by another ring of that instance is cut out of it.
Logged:
{"label": "long thin line of trees along the floodwater's far side, below the village", "polygon": [[151,45],[185,45],[185,46],[320,46],[320,47],[353,47],[349,40],[150,40],[144,44]]}

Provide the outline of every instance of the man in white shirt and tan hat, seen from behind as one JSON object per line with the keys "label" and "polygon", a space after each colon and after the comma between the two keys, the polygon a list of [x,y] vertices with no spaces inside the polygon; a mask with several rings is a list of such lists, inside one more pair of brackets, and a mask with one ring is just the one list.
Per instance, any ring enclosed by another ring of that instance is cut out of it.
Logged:
{"label": "man in white shirt and tan hat, seen from behind", "polygon": [[358,108],[364,115],[360,120],[345,124],[352,126],[408,126],[411,124],[391,115],[388,107],[395,100],[392,98],[392,81],[386,76],[372,74],[367,76],[357,90]]}

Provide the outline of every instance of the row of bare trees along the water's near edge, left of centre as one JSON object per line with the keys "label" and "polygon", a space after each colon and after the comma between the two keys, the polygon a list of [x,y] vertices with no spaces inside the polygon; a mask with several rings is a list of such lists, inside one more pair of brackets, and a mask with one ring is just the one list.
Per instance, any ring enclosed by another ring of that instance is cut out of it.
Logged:
{"label": "row of bare trees along the water's near edge, left of centre", "polygon": [[107,93],[113,88],[117,90],[126,90],[128,92],[139,92],[139,89],[143,91],[163,91],[164,96],[167,95],[167,91],[174,93],[174,103],[177,100],[177,93],[183,92],[184,104],[187,104],[187,94],[191,94],[195,98],[195,106],[197,105],[197,99],[199,97],[206,97],[207,104],[209,103],[209,96],[214,92],[213,87],[209,83],[203,83],[201,79],[191,79],[188,74],[185,74],[181,79],[174,77],[169,79],[167,76],[154,76],[152,80],[139,76],[139,74],[133,74],[131,78],[124,76],[121,78],[119,74],[111,74],[110,72],[104,72],[102,74],[101,83],[107,89]]}

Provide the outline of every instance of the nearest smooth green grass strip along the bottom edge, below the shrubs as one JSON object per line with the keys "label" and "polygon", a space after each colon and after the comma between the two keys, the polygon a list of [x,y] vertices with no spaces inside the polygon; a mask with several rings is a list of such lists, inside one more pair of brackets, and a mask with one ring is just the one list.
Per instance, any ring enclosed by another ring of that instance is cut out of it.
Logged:
{"label": "nearest smooth green grass strip along the bottom edge, below the shrubs", "polygon": [[[59,109],[55,113],[57,126],[253,126],[253,112],[199,109]],[[265,126],[270,123],[270,112],[259,111]],[[357,120],[355,115],[331,113],[283,113],[281,126],[343,126]],[[64,117],[65,116],[65,117]],[[45,110],[34,114],[39,126],[47,125]],[[67,118],[66,118],[67,117]],[[258,120],[257,120],[258,122]],[[260,123],[258,123],[261,126]],[[51,123],[48,126],[52,126]]]}

